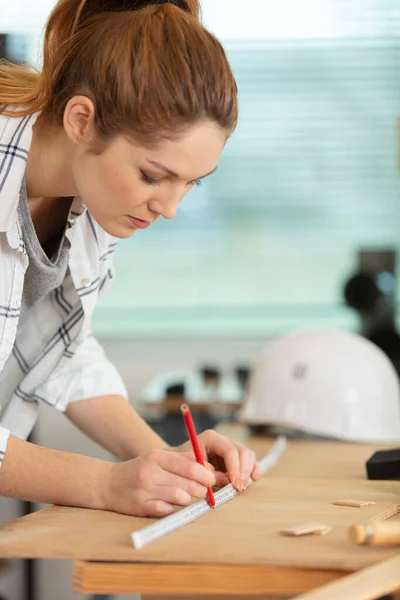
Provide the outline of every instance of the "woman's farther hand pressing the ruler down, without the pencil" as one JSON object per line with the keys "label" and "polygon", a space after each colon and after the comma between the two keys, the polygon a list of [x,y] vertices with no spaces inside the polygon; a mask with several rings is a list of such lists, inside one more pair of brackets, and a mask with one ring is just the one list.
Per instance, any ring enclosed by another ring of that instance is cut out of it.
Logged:
{"label": "woman's farther hand pressing the ruler down, without the pencil", "polygon": [[[223,487],[231,482],[242,492],[249,478],[256,481],[260,477],[260,465],[256,455],[242,444],[234,442],[216,431],[207,430],[198,435],[203,457],[215,468],[216,485]],[[175,452],[190,452],[191,443],[185,442]]]}

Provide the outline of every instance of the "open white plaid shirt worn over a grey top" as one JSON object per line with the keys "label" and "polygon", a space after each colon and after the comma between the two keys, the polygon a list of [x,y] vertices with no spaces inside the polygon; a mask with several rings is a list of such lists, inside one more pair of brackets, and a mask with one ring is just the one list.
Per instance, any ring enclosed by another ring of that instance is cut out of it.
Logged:
{"label": "open white plaid shirt worn over a grey top", "polygon": [[117,370],[91,335],[93,310],[114,277],[117,240],[101,229],[79,198],[68,216],[67,277],[30,309],[16,344],[29,262],[17,208],[37,116],[0,115],[0,377],[9,357],[21,369],[9,397],[2,397],[0,389],[0,464],[10,432],[28,437],[39,401],[65,411],[69,402],[85,398],[127,397]]}

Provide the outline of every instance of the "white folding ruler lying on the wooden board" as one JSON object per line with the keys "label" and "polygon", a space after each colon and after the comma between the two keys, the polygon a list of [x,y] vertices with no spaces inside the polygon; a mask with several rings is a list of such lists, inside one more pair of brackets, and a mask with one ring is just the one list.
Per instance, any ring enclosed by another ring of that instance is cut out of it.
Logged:
{"label": "white folding ruler lying on the wooden board", "polygon": [[[261,473],[264,475],[271,469],[279,460],[281,455],[286,449],[286,438],[280,436],[275,444],[272,446],[271,450],[262,458],[259,463],[261,467]],[[251,485],[253,483],[252,479],[249,479],[247,485]],[[235,488],[230,483],[226,485],[222,490],[219,490],[215,495],[215,508],[220,506],[221,504],[225,504],[228,500],[232,500],[239,492],[235,490]],[[169,515],[168,517],[164,517],[160,519],[156,523],[152,523],[148,527],[144,527],[143,529],[139,529],[138,531],[134,531],[132,536],[132,542],[136,549],[143,548],[150,544],[150,542],[154,542],[158,538],[175,531],[175,529],[179,529],[188,523],[191,523],[198,517],[205,515],[210,512],[210,510],[214,510],[210,507],[207,500],[200,500],[195,504],[191,504],[187,508],[183,508],[182,510]]]}

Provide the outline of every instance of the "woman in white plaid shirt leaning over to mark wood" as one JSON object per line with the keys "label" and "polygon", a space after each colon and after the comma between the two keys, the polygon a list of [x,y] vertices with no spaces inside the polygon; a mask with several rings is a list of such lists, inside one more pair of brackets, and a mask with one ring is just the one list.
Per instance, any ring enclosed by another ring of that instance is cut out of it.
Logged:
{"label": "woman in white plaid shirt leaning over to mark wood", "polygon": [[[213,431],[169,448],[132,410],[91,335],[119,238],[171,219],[214,171],[237,91],[196,0],[60,0],[40,73],[0,66],[0,493],[160,516],[254,453]],[[132,274],[134,276],[134,274]],[[122,462],[25,441],[44,401]]]}

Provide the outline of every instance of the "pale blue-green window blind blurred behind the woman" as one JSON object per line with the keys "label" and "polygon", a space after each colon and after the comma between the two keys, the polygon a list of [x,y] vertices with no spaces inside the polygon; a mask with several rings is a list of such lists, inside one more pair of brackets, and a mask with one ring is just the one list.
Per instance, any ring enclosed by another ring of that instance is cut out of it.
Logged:
{"label": "pale blue-green window blind blurred behind the woman", "polygon": [[[51,5],[15,0],[0,15],[0,30],[28,36],[34,63]],[[204,0],[203,16],[238,82],[238,128],[176,219],[121,241],[94,329],[353,329],[342,286],[358,251],[400,244],[398,0],[248,0],[245,12]]]}

